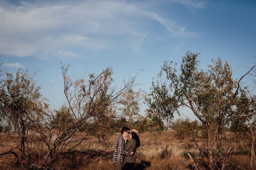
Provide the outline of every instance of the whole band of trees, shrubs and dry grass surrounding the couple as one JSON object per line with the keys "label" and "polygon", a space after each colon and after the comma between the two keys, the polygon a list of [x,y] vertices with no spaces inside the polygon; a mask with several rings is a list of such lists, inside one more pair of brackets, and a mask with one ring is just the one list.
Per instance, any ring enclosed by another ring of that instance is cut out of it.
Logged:
{"label": "whole band of trees, shrubs and dry grass surrounding the couple", "polygon": [[[70,78],[70,65],[62,64],[66,101],[50,111],[33,75],[14,76],[0,63],[0,168],[113,169],[114,141],[129,126],[140,132],[135,169],[255,169],[255,96],[241,89],[227,62],[203,71],[197,56],[183,57],[180,74],[164,63],[146,94],[145,116],[135,77],[117,88],[111,68]],[[181,107],[198,119],[173,120]]]}

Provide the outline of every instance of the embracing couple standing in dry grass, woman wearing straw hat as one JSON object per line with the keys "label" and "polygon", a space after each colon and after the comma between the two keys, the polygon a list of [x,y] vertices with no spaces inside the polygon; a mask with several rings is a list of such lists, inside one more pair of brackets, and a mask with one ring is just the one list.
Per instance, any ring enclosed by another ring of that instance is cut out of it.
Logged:
{"label": "embracing couple standing in dry grass, woman wearing straw hat", "polygon": [[138,131],[122,127],[121,135],[116,139],[115,152],[112,159],[114,170],[134,169],[134,164],[136,163],[134,154],[139,146],[140,138]]}

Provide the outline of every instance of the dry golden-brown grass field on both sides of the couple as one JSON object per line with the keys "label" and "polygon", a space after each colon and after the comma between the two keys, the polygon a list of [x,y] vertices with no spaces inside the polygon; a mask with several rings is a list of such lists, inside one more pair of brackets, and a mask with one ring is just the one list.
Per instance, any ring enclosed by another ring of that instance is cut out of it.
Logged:
{"label": "dry golden-brown grass field on both sides of the couple", "polygon": [[[187,153],[192,156],[198,155],[199,151],[189,146],[187,143],[193,143],[189,138],[183,139],[184,142],[173,137],[174,131],[169,130],[167,134],[152,136],[149,132],[140,134],[141,146],[136,152],[135,169],[148,169],[148,170],[170,170],[170,169],[192,169],[192,162]],[[88,136],[85,141],[78,145],[75,150],[82,153],[70,153],[62,156],[55,162],[57,169],[88,169],[88,170],[105,170],[113,169],[111,155],[98,155],[95,157],[88,156],[87,151],[104,151],[112,153],[114,150],[114,142],[119,136],[118,133],[109,137],[109,147],[99,144],[95,137]],[[1,138],[4,138],[4,134]],[[8,139],[6,138],[6,141]],[[77,141],[79,142],[79,141]],[[75,145],[76,142],[73,143]],[[1,151],[6,150],[7,146],[0,144]],[[231,163],[238,165],[244,169],[249,169],[249,152],[241,150],[239,146],[233,146],[234,151],[229,158]],[[7,164],[8,160],[13,159],[14,156],[5,155],[0,156],[1,169],[19,169],[10,167]],[[230,169],[241,169],[235,165],[230,164]],[[200,167],[204,169],[204,167]]]}

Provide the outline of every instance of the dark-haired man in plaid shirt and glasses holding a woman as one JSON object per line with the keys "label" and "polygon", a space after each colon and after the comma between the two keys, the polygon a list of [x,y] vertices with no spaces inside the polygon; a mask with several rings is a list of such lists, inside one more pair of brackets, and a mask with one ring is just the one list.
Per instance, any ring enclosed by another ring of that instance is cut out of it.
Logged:
{"label": "dark-haired man in plaid shirt and glasses holding a woman", "polygon": [[112,159],[112,163],[114,164],[114,170],[122,170],[124,156],[133,156],[134,154],[134,152],[129,153],[124,150],[124,139],[127,139],[129,135],[130,129],[127,127],[122,127],[121,135],[116,139],[115,152]]}

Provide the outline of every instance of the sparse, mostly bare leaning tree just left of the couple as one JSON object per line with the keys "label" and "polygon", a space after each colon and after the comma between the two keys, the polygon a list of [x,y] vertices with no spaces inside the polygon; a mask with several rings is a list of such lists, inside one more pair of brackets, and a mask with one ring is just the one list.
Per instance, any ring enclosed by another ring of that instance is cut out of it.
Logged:
{"label": "sparse, mostly bare leaning tree just left of the couple", "polygon": [[[42,136],[42,142],[47,146],[44,157],[44,165],[47,166],[64,154],[76,152],[75,148],[86,139],[88,134],[96,137],[102,135],[100,137],[106,139],[110,131],[105,128],[108,128],[110,121],[118,117],[114,110],[119,104],[129,100],[124,99],[121,94],[136,85],[135,77],[129,77],[121,88],[113,86],[111,68],[103,70],[100,74],[88,73],[81,77],[70,78],[69,67],[70,64],[61,63],[66,106],[74,119],[73,123],[67,126],[63,133],[60,128],[54,128],[47,123],[52,120],[52,116],[48,116],[45,124],[51,130],[44,129],[43,125],[36,129]],[[88,80],[85,80],[85,76],[88,76]],[[93,122],[96,126],[91,127]],[[95,128],[94,131],[91,131],[91,128]],[[98,130],[102,133],[99,134]],[[111,130],[115,131],[114,128]],[[74,146],[72,141],[79,142]]]}

